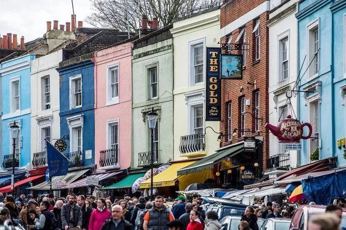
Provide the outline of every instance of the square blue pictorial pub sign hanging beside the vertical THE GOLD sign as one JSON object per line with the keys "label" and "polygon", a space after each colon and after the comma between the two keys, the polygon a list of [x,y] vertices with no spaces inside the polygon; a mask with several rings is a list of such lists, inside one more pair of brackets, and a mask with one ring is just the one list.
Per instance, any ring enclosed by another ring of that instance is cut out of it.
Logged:
{"label": "square blue pictorial pub sign hanging beside the vertical THE GOLD sign", "polygon": [[243,56],[241,54],[221,55],[221,79],[243,79]]}

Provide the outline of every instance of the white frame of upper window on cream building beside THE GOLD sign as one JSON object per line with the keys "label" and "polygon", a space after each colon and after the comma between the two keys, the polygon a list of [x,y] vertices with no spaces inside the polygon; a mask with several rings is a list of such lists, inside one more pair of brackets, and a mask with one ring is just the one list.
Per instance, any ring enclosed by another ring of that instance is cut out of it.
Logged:
{"label": "white frame of upper window on cream building beside THE GOLD sign", "polygon": [[[205,44],[206,44],[206,38],[200,38],[196,39],[193,41],[189,41],[188,43],[188,57],[189,57],[189,86],[194,86],[194,85],[204,85],[205,79],[206,79],[206,50],[205,50]],[[203,81],[196,83],[195,82],[195,74],[194,74],[194,47],[202,45],[203,47]]]}

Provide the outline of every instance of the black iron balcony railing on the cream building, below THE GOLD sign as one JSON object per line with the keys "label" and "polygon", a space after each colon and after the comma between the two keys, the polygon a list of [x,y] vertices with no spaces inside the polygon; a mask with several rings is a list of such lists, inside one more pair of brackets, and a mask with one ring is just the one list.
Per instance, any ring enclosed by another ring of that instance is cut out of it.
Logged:
{"label": "black iron balcony railing on the cream building, below THE GOLD sign", "polygon": [[179,150],[181,154],[202,152],[206,150],[204,134],[191,134],[180,137]]}

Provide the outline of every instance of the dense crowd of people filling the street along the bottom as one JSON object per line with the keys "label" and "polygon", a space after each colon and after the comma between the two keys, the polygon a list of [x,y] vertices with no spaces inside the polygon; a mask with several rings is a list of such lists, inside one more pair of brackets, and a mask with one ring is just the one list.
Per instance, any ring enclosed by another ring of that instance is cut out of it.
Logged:
{"label": "dense crowd of people filling the street along the bottom", "polygon": [[[3,204],[3,205],[2,205]],[[179,195],[171,206],[167,199],[156,196],[154,201],[140,196],[125,195],[124,199],[111,201],[110,196],[95,199],[84,195],[70,194],[66,198],[55,199],[52,194],[34,198],[32,194],[20,195],[15,199],[11,195],[5,198],[0,193],[0,225],[11,220],[14,225],[24,229],[71,229],[86,230],[219,230],[221,224],[215,211],[207,213],[200,207],[202,200],[185,202],[185,196]],[[329,205],[326,214],[309,222],[309,229],[340,229],[343,204]],[[291,217],[294,210],[281,208],[276,203],[254,209],[246,207],[241,215],[239,229],[257,230],[258,218]],[[343,229],[343,228],[341,228]]]}

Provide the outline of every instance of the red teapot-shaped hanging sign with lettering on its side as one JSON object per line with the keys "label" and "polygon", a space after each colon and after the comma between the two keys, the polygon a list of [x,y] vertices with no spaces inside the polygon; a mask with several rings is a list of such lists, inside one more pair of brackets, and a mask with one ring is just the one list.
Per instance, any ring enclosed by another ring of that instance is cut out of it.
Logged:
{"label": "red teapot-shaped hanging sign with lettering on its side", "polygon": [[[307,126],[309,129],[307,136],[303,136],[304,126]],[[299,143],[300,139],[309,139],[312,133],[311,124],[301,124],[299,120],[293,119],[291,115],[288,115],[286,119],[280,120],[277,126],[266,123],[265,127],[277,137],[280,143]]]}

